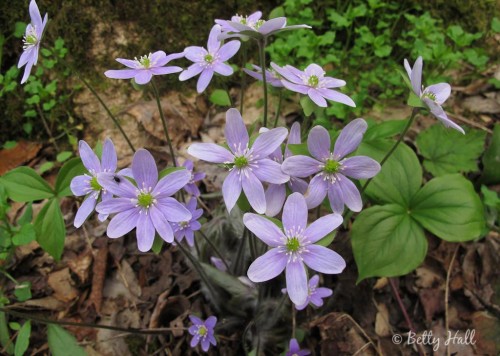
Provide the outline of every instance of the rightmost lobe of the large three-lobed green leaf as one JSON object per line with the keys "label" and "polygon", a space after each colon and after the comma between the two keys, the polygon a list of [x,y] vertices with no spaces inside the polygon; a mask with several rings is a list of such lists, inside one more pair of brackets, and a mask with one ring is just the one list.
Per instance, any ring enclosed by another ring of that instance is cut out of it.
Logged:
{"label": "rightmost lobe of the large three-lobed green leaf", "polygon": [[446,241],[473,240],[485,225],[481,199],[459,174],[432,179],[415,194],[410,210],[424,228]]}

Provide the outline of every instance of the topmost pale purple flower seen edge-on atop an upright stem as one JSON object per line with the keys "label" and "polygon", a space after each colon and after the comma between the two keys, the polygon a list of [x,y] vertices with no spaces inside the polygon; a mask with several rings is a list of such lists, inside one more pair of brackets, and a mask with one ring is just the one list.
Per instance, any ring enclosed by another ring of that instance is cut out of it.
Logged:
{"label": "topmost pale purple flower seen edge-on atop an upright stem", "polygon": [[221,25],[223,33],[220,39],[230,37],[265,39],[275,33],[293,30],[297,28],[311,28],[308,25],[286,26],[286,17],[277,17],[271,20],[261,20],[262,13],[254,12],[250,16],[233,16],[228,20],[215,20]]}

